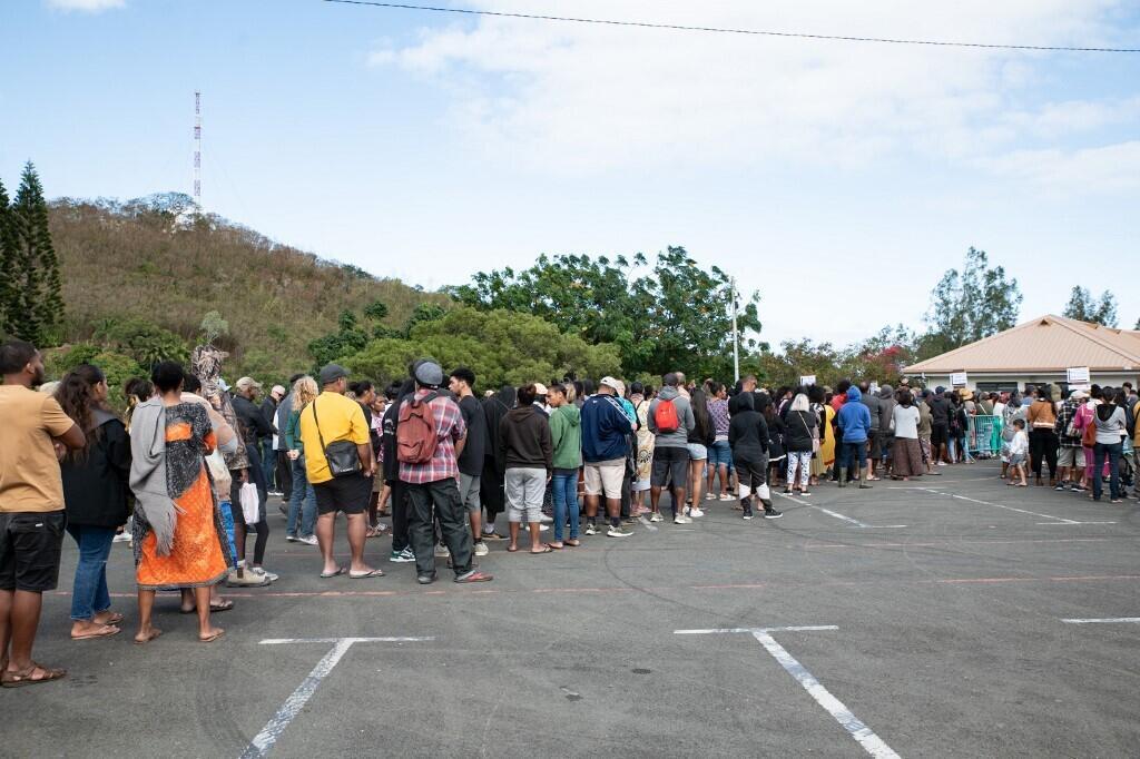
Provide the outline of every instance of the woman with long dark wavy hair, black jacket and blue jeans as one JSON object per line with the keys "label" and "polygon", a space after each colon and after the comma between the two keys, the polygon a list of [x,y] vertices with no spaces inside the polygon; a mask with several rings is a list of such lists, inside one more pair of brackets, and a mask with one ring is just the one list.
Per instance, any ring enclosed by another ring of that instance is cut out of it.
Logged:
{"label": "woman with long dark wavy hair, black jacket and blue jeans", "polygon": [[71,636],[103,638],[117,634],[123,621],[111,611],[107,557],[115,531],[127,522],[131,444],[127,427],[107,407],[107,379],[98,367],[75,367],[56,390],[56,400],[87,435],[87,446],[68,451],[59,465],[67,532],[79,546]]}

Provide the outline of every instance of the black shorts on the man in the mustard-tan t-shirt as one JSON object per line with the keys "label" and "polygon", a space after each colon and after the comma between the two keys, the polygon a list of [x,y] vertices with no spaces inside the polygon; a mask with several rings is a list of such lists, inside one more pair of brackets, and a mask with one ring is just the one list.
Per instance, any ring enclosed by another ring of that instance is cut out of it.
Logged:
{"label": "black shorts on the man in the mustard-tan t-shirt", "polygon": [[0,590],[55,590],[66,527],[62,511],[0,513]]}

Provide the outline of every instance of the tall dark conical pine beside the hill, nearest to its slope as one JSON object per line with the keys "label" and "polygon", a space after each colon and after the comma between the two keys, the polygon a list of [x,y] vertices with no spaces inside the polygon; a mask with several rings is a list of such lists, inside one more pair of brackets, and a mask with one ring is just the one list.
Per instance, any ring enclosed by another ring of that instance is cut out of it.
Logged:
{"label": "tall dark conical pine beside the hill, nearest to its slope", "polygon": [[10,214],[16,243],[7,299],[7,332],[36,345],[50,345],[63,325],[59,260],[48,228],[43,186],[28,162]]}

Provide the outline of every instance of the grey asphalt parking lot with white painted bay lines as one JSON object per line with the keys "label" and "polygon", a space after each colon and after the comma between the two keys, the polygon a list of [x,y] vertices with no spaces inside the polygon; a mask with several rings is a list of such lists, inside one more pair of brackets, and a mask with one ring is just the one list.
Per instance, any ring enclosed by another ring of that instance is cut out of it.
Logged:
{"label": "grey asphalt parking lot with white painted bay lines", "polygon": [[68,545],[36,658],[71,674],[0,692],[0,753],[1137,756],[1135,501],[942,471],[776,498],[774,521],[718,503],[549,555],[498,544],[474,587],[386,562],[320,580],[275,522],[282,579],[230,594],[211,645],[177,596],[132,645],[125,545],[123,634],[68,640]]}

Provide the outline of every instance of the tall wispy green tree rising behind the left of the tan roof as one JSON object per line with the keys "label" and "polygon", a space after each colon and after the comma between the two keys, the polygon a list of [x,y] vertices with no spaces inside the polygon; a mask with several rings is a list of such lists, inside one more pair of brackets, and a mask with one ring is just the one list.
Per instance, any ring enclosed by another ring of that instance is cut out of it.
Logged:
{"label": "tall wispy green tree rising behind the left of the tan roof", "polygon": [[925,320],[930,330],[918,338],[918,358],[937,356],[988,337],[1017,324],[1021,291],[1005,268],[990,266],[985,251],[971,247],[962,270],[950,269],[934,288]]}

